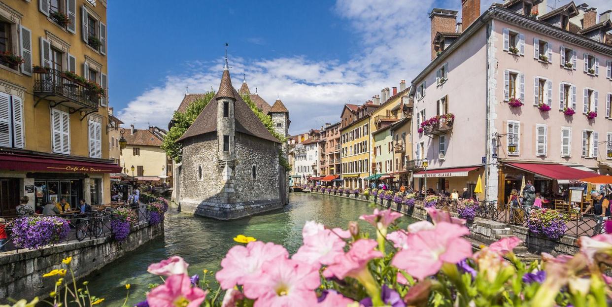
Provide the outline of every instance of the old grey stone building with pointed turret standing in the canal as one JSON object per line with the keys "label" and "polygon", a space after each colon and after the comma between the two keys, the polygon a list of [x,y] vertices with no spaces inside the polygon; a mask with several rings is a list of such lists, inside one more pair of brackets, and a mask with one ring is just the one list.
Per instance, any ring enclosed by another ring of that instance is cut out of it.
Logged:
{"label": "old grey stone building with pointed turret standing in the canal", "polygon": [[[243,95],[250,95],[246,83],[241,90],[245,87]],[[283,114],[280,128],[288,125],[288,113]],[[178,141],[183,145],[177,174],[182,211],[232,220],[286,204],[281,143],[234,89],[227,65],[217,94]]]}

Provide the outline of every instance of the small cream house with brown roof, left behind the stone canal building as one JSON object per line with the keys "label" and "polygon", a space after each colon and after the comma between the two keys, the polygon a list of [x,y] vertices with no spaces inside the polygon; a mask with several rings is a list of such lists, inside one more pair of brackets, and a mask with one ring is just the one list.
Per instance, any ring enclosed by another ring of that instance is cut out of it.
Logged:
{"label": "small cream house with brown roof, left behind the stone canal building", "polygon": [[[166,131],[158,127],[149,129],[131,129],[125,131],[127,146],[122,150],[121,166],[124,173],[135,177],[139,183],[172,182],[168,175],[172,169],[172,161],[162,150],[163,137]],[[133,169],[132,169],[133,166]]]}

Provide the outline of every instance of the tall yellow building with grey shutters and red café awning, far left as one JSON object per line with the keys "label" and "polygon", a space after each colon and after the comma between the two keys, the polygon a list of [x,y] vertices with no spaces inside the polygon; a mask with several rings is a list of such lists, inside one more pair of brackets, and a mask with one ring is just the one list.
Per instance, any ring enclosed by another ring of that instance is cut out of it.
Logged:
{"label": "tall yellow building with grey shutters and red caf\u00e9 awning, far left", "polygon": [[106,1],[0,2],[0,215],[110,202]]}

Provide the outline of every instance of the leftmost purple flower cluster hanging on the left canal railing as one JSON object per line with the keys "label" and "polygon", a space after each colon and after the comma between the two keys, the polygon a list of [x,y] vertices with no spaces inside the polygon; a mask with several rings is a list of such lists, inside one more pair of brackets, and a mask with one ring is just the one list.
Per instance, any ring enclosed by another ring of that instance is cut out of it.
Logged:
{"label": "leftmost purple flower cluster hanging on the left canal railing", "polygon": [[13,221],[13,242],[34,250],[65,240],[69,231],[68,222],[57,216],[23,216]]}

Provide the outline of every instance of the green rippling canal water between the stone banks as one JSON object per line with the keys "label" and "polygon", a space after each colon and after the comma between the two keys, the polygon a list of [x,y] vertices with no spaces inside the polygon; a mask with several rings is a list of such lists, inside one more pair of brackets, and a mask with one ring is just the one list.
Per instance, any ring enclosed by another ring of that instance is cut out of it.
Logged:
{"label": "green rippling canal water between the stone banks", "polygon": [[[244,234],[264,242],[285,246],[290,254],[302,245],[302,227],[315,220],[329,227],[346,229],[349,221],[359,221],[362,214],[370,214],[367,202],[329,195],[291,193],[289,204],[265,215],[236,221],[217,221],[176,212],[170,207],[166,213],[165,236],[146,243],[118,261],[106,265],[88,276],[92,295],[105,298],[105,306],[121,306],[125,299],[125,284],[131,284],[127,306],[145,297],[151,283],[161,283],[159,276],[147,273],[147,266],[173,255],[189,263],[189,273],[217,272],[226,252],[234,245],[233,238]],[[404,216],[400,226],[412,220]],[[360,227],[374,235],[374,228],[365,221]]]}

